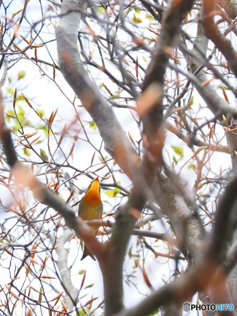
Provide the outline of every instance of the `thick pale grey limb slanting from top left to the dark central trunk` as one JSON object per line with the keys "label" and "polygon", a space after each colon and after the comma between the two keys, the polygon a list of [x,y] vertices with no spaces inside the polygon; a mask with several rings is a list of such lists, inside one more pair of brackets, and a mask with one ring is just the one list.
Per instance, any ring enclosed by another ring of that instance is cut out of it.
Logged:
{"label": "thick pale grey limb slanting from top left to the dark central trunk", "polygon": [[[77,47],[77,34],[84,1],[64,0],[56,27],[58,64],[64,78],[96,122],[106,151],[133,179],[136,152],[115,117],[112,108],[83,68]],[[131,162],[131,163],[130,163]]]}

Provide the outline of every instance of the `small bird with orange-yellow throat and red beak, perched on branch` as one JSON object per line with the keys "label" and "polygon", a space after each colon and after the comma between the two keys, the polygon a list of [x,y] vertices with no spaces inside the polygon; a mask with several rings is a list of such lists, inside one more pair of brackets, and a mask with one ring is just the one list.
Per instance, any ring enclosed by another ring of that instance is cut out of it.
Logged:
{"label": "small bird with orange-yellow throat and red beak, perched on branch", "polygon": [[[85,195],[82,197],[79,203],[78,216],[80,216],[83,221],[91,221],[93,219],[100,219],[102,212],[103,204],[100,198],[100,181],[98,176],[91,181]],[[94,235],[96,236],[99,228],[91,228],[93,229]],[[88,255],[95,261],[93,253],[84,244],[84,252],[81,260],[86,258]]]}

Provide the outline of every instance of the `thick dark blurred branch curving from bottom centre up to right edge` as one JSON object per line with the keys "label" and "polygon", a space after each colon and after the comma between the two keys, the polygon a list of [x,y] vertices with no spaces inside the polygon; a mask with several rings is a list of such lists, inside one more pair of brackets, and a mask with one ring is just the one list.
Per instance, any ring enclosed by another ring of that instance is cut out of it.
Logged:
{"label": "thick dark blurred branch curving from bottom centre up to right edge", "polygon": [[[114,316],[146,316],[158,308],[167,307],[171,303],[180,304],[189,301],[190,297],[197,291],[203,291],[209,287],[215,289],[224,283],[226,274],[230,272],[225,260],[227,253],[226,242],[229,239],[228,219],[232,218],[233,213],[236,214],[234,207],[236,196],[233,194],[236,185],[237,177],[227,186],[218,204],[214,229],[211,234],[206,236],[206,242],[203,243],[206,246],[203,247],[201,256],[196,261],[193,270],[190,273],[184,273],[173,283],[166,284],[154,291],[135,307],[123,310]],[[222,238],[222,236],[226,238]],[[219,249],[221,249],[221,252],[219,252]],[[233,258],[229,258],[230,255],[229,253],[227,260],[233,265]],[[221,297],[219,299],[222,300]],[[217,303],[220,303],[220,301],[217,301]]]}

